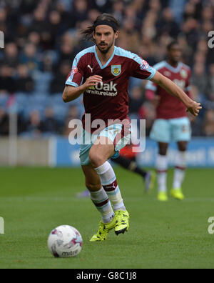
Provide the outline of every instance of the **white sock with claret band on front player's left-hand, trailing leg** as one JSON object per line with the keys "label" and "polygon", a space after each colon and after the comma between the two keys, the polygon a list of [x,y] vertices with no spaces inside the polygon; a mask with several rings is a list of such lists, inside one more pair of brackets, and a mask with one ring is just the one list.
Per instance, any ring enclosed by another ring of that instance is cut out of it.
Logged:
{"label": "white sock with claret band on front player's left-hand, trailing leg", "polygon": [[102,222],[110,223],[114,217],[114,212],[103,187],[97,192],[91,192],[91,200],[96,206],[96,209],[98,209],[98,212],[101,213]]}

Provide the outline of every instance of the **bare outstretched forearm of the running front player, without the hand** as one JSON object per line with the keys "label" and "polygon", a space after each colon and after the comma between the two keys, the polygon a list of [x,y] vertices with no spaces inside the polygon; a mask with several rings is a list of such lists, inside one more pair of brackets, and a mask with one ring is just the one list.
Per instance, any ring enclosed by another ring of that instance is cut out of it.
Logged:
{"label": "bare outstretched forearm of the running front player, without the hand", "polygon": [[180,89],[179,86],[177,86],[173,81],[170,79],[166,78],[163,75],[159,75],[160,73],[157,74],[157,76],[154,76],[153,81],[156,82],[159,86],[163,87],[165,91],[167,91],[169,94],[177,97],[180,99],[180,101],[185,104],[187,108],[192,106],[193,100],[188,97],[188,95],[185,94],[185,92]]}

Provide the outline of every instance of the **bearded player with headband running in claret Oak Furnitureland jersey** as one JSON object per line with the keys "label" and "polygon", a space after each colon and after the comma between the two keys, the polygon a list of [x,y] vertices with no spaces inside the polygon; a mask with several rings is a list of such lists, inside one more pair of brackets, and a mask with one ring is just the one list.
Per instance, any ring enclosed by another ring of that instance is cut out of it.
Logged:
{"label": "bearded player with headband running in claret Oak Furnitureland jersey", "polygon": [[[110,14],[98,16],[93,26],[83,33],[95,45],[76,55],[63,91],[63,101],[73,101],[83,94],[86,113],[82,119],[80,160],[91,200],[101,214],[98,232],[91,238],[91,242],[96,242],[105,240],[111,229],[118,235],[129,228],[129,214],[108,162],[109,158],[118,156],[131,139],[129,77],[160,84],[183,101],[195,116],[201,107],[141,57],[115,46],[119,36],[118,21]],[[102,125],[96,126],[97,121]],[[90,143],[88,136],[91,136]]]}

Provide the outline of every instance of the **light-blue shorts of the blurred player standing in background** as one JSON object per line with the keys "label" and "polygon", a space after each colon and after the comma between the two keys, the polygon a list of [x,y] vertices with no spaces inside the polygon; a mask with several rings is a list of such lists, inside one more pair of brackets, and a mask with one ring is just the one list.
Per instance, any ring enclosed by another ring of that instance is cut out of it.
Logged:
{"label": "light-blue shorts of the blurred player standing in background", "polygon": [[188,117],[178,119],[157,119],[151,129],[150,138],[154,141],[190,141],[191,126]]}

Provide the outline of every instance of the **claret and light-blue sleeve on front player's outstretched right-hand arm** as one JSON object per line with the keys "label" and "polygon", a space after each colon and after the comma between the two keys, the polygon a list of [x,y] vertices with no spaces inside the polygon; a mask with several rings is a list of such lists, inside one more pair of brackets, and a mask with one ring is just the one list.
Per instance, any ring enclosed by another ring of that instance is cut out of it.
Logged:
{"label": "claret and light-blue sleeve on front player's outstretched right-hand arm", "polygon": [[131,76],[138,79],[151,80],[156,74],[156,69],[150,66],[147,61],[143,60],[140,56],[135,55],[131,63]]}

